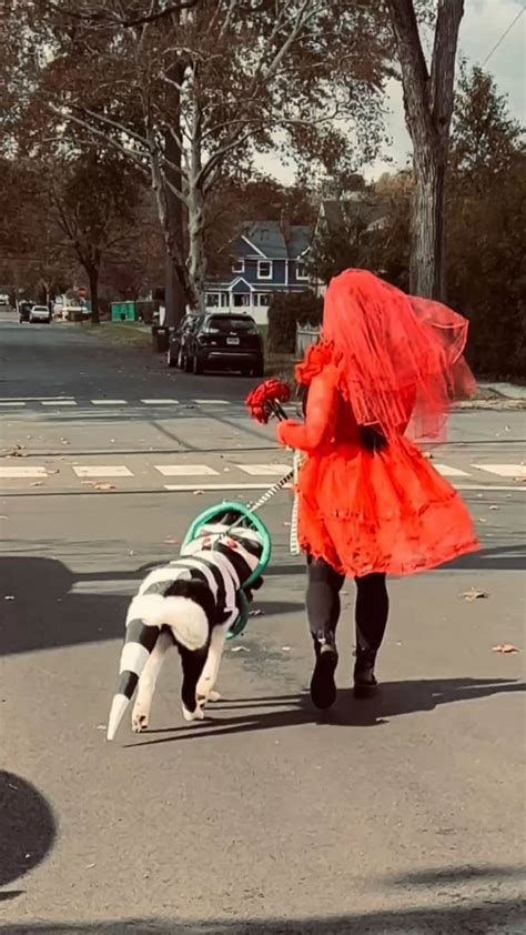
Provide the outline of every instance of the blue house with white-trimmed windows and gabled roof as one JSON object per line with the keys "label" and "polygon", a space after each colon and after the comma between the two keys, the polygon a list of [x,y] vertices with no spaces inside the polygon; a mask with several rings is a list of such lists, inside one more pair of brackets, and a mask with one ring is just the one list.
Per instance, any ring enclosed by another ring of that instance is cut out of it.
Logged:
{"label": "blue house with white-trimmed windows and gabled roof", "polygon": [[230,249],[230,275],[206,283],[206,310],[244,311],[257,324],[267,323],[275,292],[308,289],[306,255],[312,229],[279,221],[243,225]]}

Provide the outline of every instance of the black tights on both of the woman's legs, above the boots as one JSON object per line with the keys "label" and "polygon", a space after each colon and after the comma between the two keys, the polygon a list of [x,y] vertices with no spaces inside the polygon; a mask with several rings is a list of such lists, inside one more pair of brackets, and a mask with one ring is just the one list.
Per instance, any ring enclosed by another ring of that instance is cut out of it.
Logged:
{"label": "black tights on both of the woman's legs, above the boots", "polygon": [[[313,636],[334,634],[340,619],[340,592],[345,575],[336,572],[323,559],[307,559],[308,585],[306,610]],[[367,574],[356,579],[356,645],[358,650],[376,652],[384,639],[390,599],[385,574]]]}

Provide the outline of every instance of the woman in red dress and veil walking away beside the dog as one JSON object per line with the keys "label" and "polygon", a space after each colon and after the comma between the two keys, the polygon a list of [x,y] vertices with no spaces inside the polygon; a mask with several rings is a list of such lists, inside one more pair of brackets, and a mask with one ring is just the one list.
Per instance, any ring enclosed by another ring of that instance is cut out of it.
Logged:
{"label": "woman in red dress and veil walking away beside the dog", "polygon": [[314,640],[313,703],[336,697],[340,591],[356,580],[354,692],[376,688],[374,665],[388,614],[386,575],[406,575],[478,547],[466,506],[415,442],[442,441],[455,398],[473,375],[463,358],[467,321],[373,273],[347,270],[325,296],[323,340],[296,368],[304,424],[279,423],[300,449],[299,540],[307,556]]}

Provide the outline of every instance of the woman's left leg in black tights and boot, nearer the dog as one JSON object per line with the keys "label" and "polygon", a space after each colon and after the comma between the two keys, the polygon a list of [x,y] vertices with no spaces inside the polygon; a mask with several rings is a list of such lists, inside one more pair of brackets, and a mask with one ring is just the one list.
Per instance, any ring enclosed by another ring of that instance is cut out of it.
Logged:
{"label": "woman's left leg in black tights and boot, nearer the dog", "polygon": [[323,559],[311,556],[307,557],[307,575],[306,610],[316,655],[311,678],[311,698],[316,707],[326,708],[331,707],[336,700],[335,633],[340,619],[340,591],[344,576]]}

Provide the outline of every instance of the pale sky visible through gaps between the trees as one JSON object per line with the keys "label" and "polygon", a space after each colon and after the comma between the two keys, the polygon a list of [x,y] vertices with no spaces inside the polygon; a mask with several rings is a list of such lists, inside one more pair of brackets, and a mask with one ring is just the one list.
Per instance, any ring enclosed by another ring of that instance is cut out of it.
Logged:
{"label": "pale sky visible through gaps between the trees", "polygon": [[[483,64],[487,56],[490,56],[485,68],[495,77],[498,91],[508,95],[512,114],[522,123],[526,123],[526,0],[465,0],[464,6],[458,59],[466,58],[472,64]],[[525,12],[492,53],[522,8]],[[386,129],[392,140],[387,151],[392,162],[377,159],[364,171],[370,179],[377,178],[382,172],[403,168],[411,158],[402,89],[396,81],[390,81],[387,84],[387,108]],[[279,157],[262,157],[259,168],[275,175],[283,183],[294,181],[294,165],[282,165]]]}

